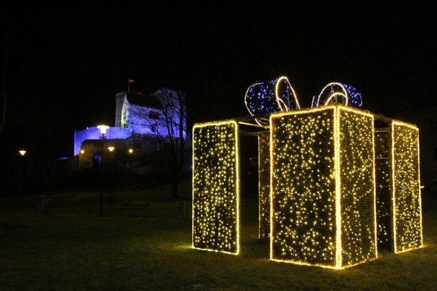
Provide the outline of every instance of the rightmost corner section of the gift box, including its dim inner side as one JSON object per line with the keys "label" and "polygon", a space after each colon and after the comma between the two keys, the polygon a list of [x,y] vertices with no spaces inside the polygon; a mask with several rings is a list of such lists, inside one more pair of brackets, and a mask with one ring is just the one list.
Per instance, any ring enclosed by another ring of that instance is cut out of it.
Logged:
{"label": "rightmost corner section of the gift box, including its dim inner side", "polygon": [[383,121],[374,131],[378,245],[400,253],[423,246],[419,129]]}

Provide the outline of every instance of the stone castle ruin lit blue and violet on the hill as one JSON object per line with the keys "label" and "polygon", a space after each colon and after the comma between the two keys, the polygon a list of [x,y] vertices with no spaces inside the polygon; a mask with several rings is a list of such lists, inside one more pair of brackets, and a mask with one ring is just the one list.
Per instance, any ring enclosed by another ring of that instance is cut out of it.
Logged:
{"label": "stone castle ruin lit blue and violet on the hill", "polygon": [[[128,91],[116,94],[115,124],[106,130],[104,138],[105,144],[118,152],[141,147],[144,153],[158,149],[157,145],[152,146],[156,138],[185,137],[186,128],[184,93],[168,88],[148,95]],[[96,141],[101,139],[97,126],[74,132],[74,155],[82,155],[82,159],[85,155],[85,168],[100,155]]]}

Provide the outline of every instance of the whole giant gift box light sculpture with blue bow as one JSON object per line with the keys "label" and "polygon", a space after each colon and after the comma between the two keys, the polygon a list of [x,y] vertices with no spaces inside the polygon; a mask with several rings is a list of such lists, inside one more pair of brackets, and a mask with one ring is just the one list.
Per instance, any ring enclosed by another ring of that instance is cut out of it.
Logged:
{"label": "whole giant gift box light sculpture with blue bow", "polygon": [[240,253],[243,125],[259,137],[259,233],[270,259],[344,268],[421,248],[419,130],[330,83],[301,109],[286,77],[249,87],[250,119],[193,127],[193,248]]}

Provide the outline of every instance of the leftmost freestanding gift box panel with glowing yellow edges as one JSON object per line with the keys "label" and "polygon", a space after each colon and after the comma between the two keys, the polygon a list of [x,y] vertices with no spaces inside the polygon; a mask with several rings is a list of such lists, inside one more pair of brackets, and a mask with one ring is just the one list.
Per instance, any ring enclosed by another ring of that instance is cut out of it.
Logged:
{"label": "leftmost freestanding gift box panel with glowing yellow edges", "polygon": [[193,248],[240,252],[240,165],[234,121],[193,127]]}

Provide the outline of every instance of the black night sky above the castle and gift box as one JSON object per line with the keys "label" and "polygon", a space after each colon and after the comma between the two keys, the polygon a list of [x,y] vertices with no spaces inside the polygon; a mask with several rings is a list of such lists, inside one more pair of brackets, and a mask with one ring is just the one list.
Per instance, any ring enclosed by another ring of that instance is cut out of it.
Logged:
{"label": "black night sky above the castle and gift box", "polygon": [[387,116],[436,105],[437,21],[426,5],[11,3],[0,4],[4,29],[37,58],[24,84],[54,102],[71,145],[75,129],[114,124],[128,79],[143,93],[184,83],[194,122],[249,115],[247,88],[280,76],[303,107],[329,82],[356,87],[364,109]]}

